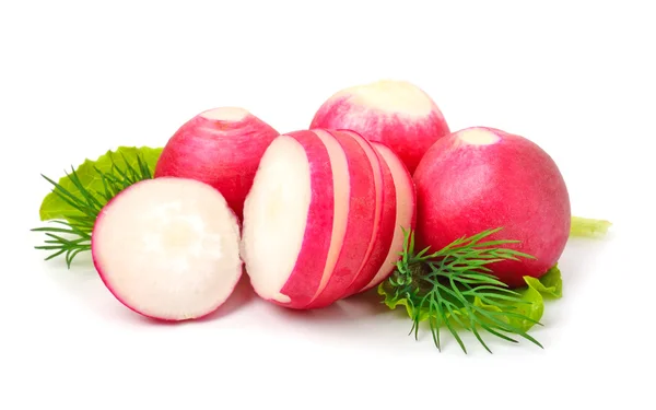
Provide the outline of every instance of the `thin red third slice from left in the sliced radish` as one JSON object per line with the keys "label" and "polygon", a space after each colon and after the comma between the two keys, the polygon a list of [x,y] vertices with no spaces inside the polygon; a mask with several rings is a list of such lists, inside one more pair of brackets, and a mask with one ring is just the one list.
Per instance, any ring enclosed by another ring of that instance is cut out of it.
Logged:
{"label": "thin red third slice from left in the sliced radish", "polygon": [[343,294],[345,297],[356,293],[362,286],[370,283],[385,262],[394,239],[397,204],[391,171],[380,153],[358,132],[350,130],[345,130],[344,132],[351,134],[360,143],[367,153],[374,169],[379,172],[379,177],[376,179],[376,191],[379,202],[376,203],[377,219],[374,224],[374,234],[370,239],[367,255],[362,267]]}

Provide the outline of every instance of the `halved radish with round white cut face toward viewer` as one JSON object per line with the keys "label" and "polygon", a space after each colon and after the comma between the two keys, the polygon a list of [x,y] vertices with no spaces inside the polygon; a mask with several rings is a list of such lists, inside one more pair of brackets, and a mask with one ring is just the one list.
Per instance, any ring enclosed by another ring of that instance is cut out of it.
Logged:
{"label": "halved radish with round white cut face toward viewer", "polygon": [[237,218],[216,189],[192,179],[131,185],[103,208],[92,237],[93,262],[107,289],[155,319],[209,315],[243,271]]}

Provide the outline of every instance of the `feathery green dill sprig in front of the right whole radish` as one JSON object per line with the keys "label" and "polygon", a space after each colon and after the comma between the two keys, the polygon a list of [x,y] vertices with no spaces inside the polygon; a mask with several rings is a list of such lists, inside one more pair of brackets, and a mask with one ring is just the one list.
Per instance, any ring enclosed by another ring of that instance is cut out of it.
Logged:
{"label": "feathery green dill sprig in front of the right whole radish", "polygon": [[441,328],[446,327],[465,353],[467,349],[458,331],[470,331],[490,353],[481,331],[517,343],[520,336],[542,348],[518,323],[539,321],[517,312],[517,305],[529,303],[519,293],[508,289],[489,265],[502,260],[534,258],[506,248],[517,241],[484,241],[501,227],[469,237],[460,237],[444,248],[429,253],[414,251],[414,233],[406,232],[403,251],[393,274],[380,284],[386,303],[402,301],[412,319],[410,333],[418,338],[421,321],[427,321],[433,341],[441,348]]}

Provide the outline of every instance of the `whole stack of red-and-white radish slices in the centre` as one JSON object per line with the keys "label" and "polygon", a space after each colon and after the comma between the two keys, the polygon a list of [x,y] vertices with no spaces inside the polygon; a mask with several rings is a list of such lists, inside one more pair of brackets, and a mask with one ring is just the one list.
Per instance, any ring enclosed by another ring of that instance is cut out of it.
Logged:
{"label": "whole stack of red-and-white radish slices in the centre", "polygon": [[265,300],[324,307],[383,281],[413,220],[412,179],[388,148],[352,131],[291,132],[246,198],[242,256]]}

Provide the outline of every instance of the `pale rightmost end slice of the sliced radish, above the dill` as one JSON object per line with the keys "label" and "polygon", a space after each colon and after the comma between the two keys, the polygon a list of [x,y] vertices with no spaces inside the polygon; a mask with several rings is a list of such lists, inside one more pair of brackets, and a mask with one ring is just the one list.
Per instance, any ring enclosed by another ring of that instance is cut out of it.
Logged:
{"label": "pale rightmost end slice of the sliced radish, above the dill", "polygon": [[406,165],[401,159],[388,147],[380,142],[372,142],[372,145],[380,153],[394,178],[394,185],[396,187],[396,231],[394,232],[394,238],[389,253],[385,258],[385,262],[374,277],[374,279],[365,285],[360,292],[366,292],[367,290],[377,286],[389,274],[395,270],[396,262],[400,258],[400,254],[403,250],[405,233],[414,230],[417,222],[417,189],[412,176],[408,172]]}

